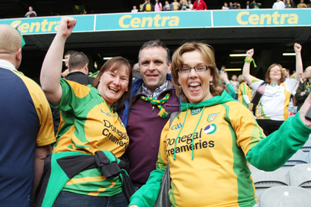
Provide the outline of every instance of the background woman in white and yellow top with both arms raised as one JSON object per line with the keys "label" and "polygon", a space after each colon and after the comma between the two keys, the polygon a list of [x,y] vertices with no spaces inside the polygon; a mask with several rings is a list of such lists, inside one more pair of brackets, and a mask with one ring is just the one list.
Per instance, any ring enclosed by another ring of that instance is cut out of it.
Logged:
{"label": "background woman in white and yellow top with both arms raised", "polygon": [[290,104],[290,95],[297,83],[300,81],[300,74],[303,72],[301,60],[301,45],[294,44],[296,53],[296,74],[285,80],[283,68],[280,64],[272,64],[265,74],[265,81],[257,79],[249,74],[249,67],[254,49],[246,52],[245,63],[243,67],[243,77],[247,84],[256,91],[259,86],[265,86],[265,92],[261,96],[255,110],[257,122],[265,135],[270,135],[278,130],[283,121],[288,119],[288,106]]}

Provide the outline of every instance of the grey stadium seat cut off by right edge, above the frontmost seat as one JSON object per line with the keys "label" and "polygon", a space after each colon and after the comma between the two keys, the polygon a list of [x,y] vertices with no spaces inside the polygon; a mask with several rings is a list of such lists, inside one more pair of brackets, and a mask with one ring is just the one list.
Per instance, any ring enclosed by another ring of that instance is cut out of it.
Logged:
{"label": "grey stadium seat cut off by right edge, above the frontmost seat", "polygon": [[311,190],[311,164],[293,166],[288,172],[288,177],[290,179],[290,186],[303,187]]}

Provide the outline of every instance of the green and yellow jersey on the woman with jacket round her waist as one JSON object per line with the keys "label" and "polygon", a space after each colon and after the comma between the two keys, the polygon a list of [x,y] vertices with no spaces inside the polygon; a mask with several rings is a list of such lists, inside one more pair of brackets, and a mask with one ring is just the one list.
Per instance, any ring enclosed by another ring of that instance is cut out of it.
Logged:
{"label": "green and yellow jersey on the woman with jacket round her waist", "polygon": [[[129,146],[129,137],[117,112],[96,88],[61,79],[59,106],[61,123],[53,152],[83,152],[94,155],[107,150],[120,158]],[[53,169],[52,169],[53,170]],[[122,191],[120,177],[106,180],[98,168],[84,170],[67,182],[63,190],[93,196],[111,196]]]}

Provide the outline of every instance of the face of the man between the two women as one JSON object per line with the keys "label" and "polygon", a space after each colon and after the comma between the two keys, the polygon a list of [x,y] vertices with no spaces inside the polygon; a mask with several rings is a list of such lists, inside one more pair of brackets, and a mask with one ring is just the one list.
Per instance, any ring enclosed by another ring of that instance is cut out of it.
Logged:
{"label": "face of the man between the two women", "polygon": [[162,47],[144,48],[140,51],[140,74],[147,88],[154,92],[167,81],[167,52]]}

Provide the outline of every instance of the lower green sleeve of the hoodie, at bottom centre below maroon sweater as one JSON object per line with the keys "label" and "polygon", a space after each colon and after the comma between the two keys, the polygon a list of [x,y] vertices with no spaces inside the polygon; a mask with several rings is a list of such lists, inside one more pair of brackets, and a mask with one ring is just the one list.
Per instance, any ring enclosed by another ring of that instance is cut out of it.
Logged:
{"label": "lower green sleeve of the hoodie, at bottom centre below maroon sweater", "polygon": [[156,169],[150,173],[148,181],[142,186],[130,199],[131,205],[137,205],[139,207],[152,207],[156,204],[158,194],[160,191],[162,177],[164,175],[164,169]]}

